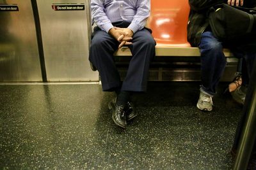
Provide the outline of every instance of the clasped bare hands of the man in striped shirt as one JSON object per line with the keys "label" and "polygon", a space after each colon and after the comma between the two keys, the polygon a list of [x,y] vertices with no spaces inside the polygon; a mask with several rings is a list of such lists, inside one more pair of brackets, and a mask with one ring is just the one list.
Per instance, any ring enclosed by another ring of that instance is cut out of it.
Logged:
{"label": "clasped bare hands of the man in striped shirt", "polygon": [[129,28],[113,27],[109,30],[109,34],[111,34],[118,42],[120,42],[118,48],[121,48],[124,45],[132,44],[130,41],[132,39],[133,32]]}

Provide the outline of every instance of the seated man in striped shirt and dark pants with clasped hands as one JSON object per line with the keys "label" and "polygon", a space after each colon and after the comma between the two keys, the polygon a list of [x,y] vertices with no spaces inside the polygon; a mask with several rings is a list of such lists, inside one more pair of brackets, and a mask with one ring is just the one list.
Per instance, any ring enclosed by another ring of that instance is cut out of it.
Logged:
{"label": "seated man in striped shirt and dark pants with clasped hands", "polygon": [[[97,68],[103,91],[115,91],[109,103],[112,119],[125,128],[136,117],[131,103],[132,92],[145,92],[150,60],[155,55],[156,42],[145,27],[150,15],[149,0],[92,0],[93,22],[89,60]],[[132,53],[123,82],[116,69],[113,53],[127,45]]]}

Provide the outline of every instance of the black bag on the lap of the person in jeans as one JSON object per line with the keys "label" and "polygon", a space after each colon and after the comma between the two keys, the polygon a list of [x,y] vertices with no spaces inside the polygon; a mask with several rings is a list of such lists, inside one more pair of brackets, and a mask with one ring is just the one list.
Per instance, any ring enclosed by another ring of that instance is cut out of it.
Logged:
{"label": "black bag on the lap of the person in jeans", "polygon": [[256,9],[218,4],[209,10],[209,24],[221,41],[252,39],[256,35]]}

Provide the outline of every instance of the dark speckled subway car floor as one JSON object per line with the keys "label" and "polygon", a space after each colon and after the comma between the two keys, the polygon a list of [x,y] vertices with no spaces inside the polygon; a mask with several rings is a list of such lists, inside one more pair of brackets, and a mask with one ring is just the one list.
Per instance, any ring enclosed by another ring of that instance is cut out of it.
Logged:
{"label": "dark speckled subway car floor", "polygon": [[152,82],[127,129],[99,84],[0,85],[0,169],[231,169],[242,112],[220,83],[211,113],[199,82]]}

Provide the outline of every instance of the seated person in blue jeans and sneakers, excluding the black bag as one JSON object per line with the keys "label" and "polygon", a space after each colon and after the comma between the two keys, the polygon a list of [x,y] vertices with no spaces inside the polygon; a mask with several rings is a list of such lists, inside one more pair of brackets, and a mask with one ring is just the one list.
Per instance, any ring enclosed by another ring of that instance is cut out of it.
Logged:
{"label": "seated person in blue jeans and sneakers, excluding the black bag", "polygon": [[[188,41],[191,46],[198,46],[201,53],[201,79],[200,97],[196,104],[199,110],[212,111],[212,97],[216,94],[216,87],[225,70],[226,59],[223,53],[223,42],[215,38],[211,32],[211,27],[207,21],[207,10],[216,4],[228,3],[236,6],[253,7],[254,0],[189,0],[191,12],[188,22]],[[243,57],[242,78],[243,82],[233,97],[239,103],[244,102],[246,86],[249,83],[252,63],[255,59],[255,52],[239,48],[242,44],[230,45],[236,51],[236,57]],[[243,45],[242,45],[243,46]]]}

